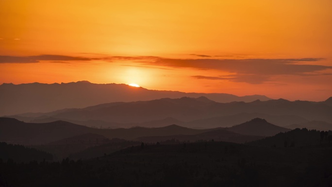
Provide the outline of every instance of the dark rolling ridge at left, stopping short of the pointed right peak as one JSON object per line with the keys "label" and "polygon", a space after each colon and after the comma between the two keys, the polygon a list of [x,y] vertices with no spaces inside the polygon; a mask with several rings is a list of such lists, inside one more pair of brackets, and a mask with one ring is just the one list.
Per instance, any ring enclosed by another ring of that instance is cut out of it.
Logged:
{"label": "dark rolling ridge at left, stopping short of the pointed right peak", "polygon": [[0,118],[0,141],[23,145],[40,145],[49,144],[50,142],[55,144],[59,143],[58,140],[65,143],[66,140],[68,142],[68,140],[77,140],[81,136],[86,136],[84,134],[97,134],[100,137],[104,136],[109,139],[122,138],[132,140],[140,136],[195,135],[207,131],[211,131],[211,129],[189,129],[178,125],[159,128],[96,129],[66,121],[25,123],[17,119]]}

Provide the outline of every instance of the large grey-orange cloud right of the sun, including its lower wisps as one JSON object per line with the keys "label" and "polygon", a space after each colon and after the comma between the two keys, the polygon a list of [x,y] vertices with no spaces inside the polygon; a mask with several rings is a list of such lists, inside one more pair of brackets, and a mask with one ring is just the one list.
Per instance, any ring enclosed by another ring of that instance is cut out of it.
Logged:
{"label": "large grey-orange cloud right of the sun, including its lower wisps", "polygon": [[249,84],[262,84],[278,75],[297,76],[331,76],[332,73],[322,73],[322,70],[332,69],[332,66],[302,64],[315,62],[322,58],[300,59],[161,59],[158,64],[167,67],[214,69],[230,72],[228,76],[192,76],[195,79],[229,80]]}

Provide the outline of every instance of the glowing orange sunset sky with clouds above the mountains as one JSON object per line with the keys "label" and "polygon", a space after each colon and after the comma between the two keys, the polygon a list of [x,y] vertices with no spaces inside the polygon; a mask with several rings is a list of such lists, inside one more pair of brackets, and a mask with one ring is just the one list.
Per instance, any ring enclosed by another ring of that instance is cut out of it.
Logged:
{"label": "glowing orange sunset sky with clouds above the mountains", "polygon": [[331,0],[0,0],[0,84],[332,96]]}

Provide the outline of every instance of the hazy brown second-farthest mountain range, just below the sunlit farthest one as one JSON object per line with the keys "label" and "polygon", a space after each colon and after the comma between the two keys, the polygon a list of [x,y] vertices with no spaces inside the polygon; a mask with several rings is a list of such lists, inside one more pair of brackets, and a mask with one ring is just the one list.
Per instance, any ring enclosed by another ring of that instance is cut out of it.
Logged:
{"label": "hazy brown second-farthest mountain range, just below the sunlit farthest one", "polygon": [[[30,119],[29,121],[54,118],[87,126],[100,127],[102,125],[104,128],[145,126],[144,123],[150,127],[153,125],[153,121],[156,126],[161,126],[158,123],[167,125],[165,119],[176,119],[179,120],[179,124],[187,127],[214,128],[229,127],[253,118],[268,119],[280,126],[312,120],[332,123],[331,114],[332,106],[321,102],[290,102],[279,99],[265,102],[219,103],[207,98],[183,97],[140,102],[112,102],[82,109],[26,113],[13,117],[21,120]],[[164,122],[160,120],[164,120]]]}

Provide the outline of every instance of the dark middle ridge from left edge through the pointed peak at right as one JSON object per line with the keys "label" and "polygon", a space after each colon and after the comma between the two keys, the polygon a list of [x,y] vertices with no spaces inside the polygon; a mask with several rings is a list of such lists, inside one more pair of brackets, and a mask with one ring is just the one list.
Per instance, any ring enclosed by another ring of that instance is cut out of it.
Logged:
{"label": "dark middle ridge from left edge through the pointed peak at right", "polygon": [[26,123],[13,118],[0,118],[0,141],[23,145],[59,145],[70,142],[76,144],[88,142],[89,139],[89,144],[96,144],[94,141],[91,142],[91,139],[140,140],[142,137],[156,141],[177,138],[183,141],[216,139],[243,143],[289,130],[270,124],[265,119],[252,119],[231,128],[190,129],[173,124],[158,128],[96,129],[66,121]]}

